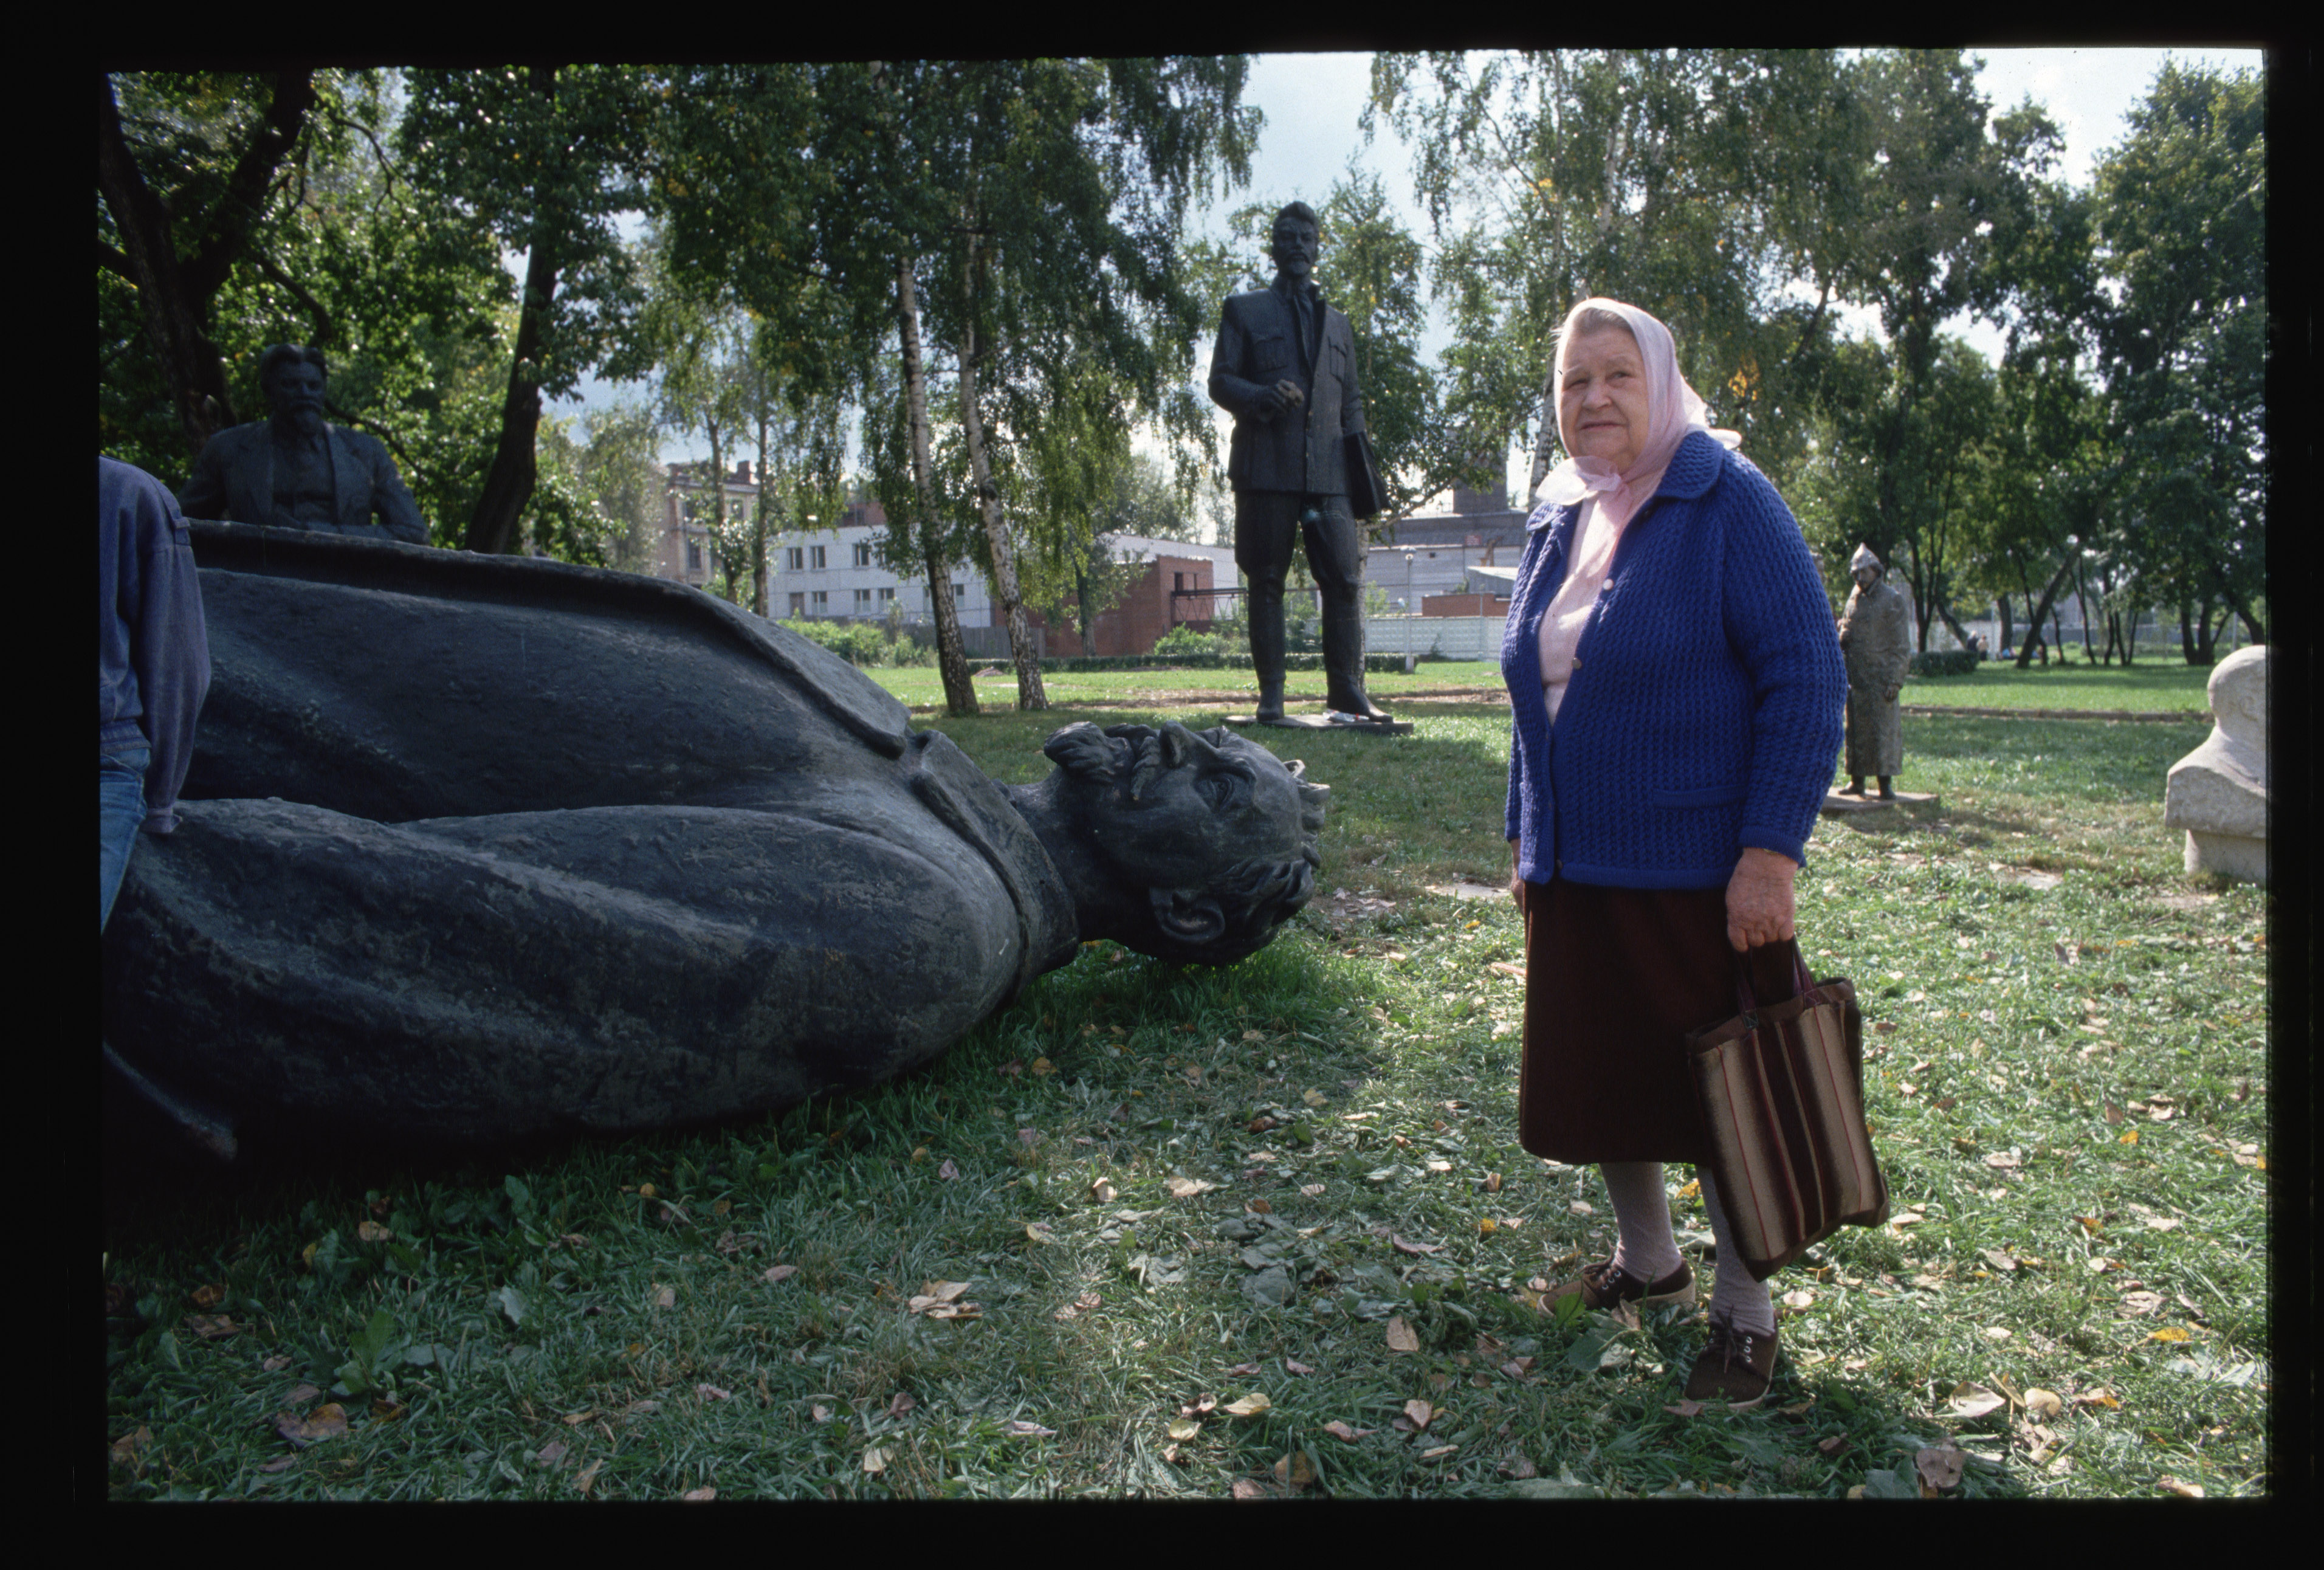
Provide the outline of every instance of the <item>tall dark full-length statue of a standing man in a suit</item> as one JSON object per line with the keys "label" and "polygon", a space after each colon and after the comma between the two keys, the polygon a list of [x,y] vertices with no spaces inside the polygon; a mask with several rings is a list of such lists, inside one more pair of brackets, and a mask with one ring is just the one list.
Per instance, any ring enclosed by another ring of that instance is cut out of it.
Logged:
{"label": "tall dark full-length statue of a standing man in a suit", "polygon": [[1229,295],[1211,351],[1211,400],[1234,414],[1234,565],[1250,579],[1250,665],[1262,721],[1283,719],[1283,579],[1306,540],[1322,591],[1327,702],[1385,721],[1364,695],[1364,540],[1378,512],[1364,444],[1355,333],[1315,288],[1320,228],[1306,202],[1276,214],[1276,281]]}

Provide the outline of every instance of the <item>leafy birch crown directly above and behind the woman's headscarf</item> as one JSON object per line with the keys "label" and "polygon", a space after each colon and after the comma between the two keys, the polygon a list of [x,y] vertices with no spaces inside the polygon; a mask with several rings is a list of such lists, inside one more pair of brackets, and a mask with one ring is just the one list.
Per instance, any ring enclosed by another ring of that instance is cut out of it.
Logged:
{"label": "leafy birch crown directly above and behind the woman's headscarf", "polygon": [[1464,479],[1520,437],[1538,484],[1552,333],[1615,295],[1671,326],[1687,379],[1787,484],[1862,186],[1862,91],[1836,51],[1383,53],[1364,116],[1415,151]]}

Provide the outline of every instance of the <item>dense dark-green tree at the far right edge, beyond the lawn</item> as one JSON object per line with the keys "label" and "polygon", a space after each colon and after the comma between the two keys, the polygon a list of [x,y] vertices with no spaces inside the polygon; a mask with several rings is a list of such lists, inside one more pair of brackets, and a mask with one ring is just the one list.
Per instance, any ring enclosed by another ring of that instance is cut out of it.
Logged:
{"label": "dense dark-green tree at the far right edge, beyond the lawn", "polygon": [[2212,661],[2212,612],[2266,584],[2266,107],[2250,72],[2166,63],[2099,160],[2099,363],[2124,554]]}

